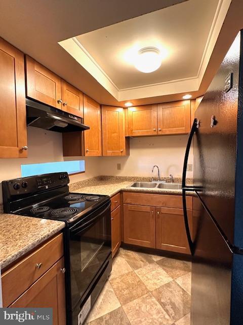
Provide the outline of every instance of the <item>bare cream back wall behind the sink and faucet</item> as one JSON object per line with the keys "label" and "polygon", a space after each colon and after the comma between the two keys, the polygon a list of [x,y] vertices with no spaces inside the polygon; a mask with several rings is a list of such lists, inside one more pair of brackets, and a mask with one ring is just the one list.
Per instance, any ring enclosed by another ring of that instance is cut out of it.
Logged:
{"label": "bare cream back wall behind the sink and faucet", "polygon": [[[187,139],[186,135],[130,138],[130,156],[103,157],[101,174],[151,177],[151,169],[157,165],[161,176],[181,177]],[[117,170],[118,163],[121,164],[120,171]],[[188,163],[193,164],[192,152]],[[187,172],[187,177],[192,177],[192,172]]]}

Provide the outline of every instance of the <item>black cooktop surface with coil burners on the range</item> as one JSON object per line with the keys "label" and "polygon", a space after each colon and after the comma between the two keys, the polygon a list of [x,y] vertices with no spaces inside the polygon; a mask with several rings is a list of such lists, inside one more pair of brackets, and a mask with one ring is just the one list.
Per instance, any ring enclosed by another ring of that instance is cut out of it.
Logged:
{"label": "black cooktop surface with coil burners on the range", "polygon": [[96,194],[66,193],[62,197],[34,204],[27,209],[18,211],[18,214],[71,222],[93,212],[108,199],[108,196]]}

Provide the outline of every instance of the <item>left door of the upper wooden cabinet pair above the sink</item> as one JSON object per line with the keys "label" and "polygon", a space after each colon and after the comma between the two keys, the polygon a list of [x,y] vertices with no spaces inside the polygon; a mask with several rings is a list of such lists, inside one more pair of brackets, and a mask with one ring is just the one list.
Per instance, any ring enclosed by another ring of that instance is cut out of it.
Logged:
{"label": "left door of the upper wooden cabinet pair above the sink", "polygon": [[157,105],[128,108],[129,136],[153,136],[157,134]]}

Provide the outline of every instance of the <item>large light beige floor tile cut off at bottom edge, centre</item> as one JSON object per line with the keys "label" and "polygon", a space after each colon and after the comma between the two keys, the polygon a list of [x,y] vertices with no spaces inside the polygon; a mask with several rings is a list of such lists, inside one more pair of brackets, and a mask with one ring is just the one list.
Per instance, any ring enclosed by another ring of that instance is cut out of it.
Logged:
{"label": "large light beige floor tile cut off at bottom edge, centre", "polygon": [[132,325],[171,325],[173,321],[149,293],[123,306]]}

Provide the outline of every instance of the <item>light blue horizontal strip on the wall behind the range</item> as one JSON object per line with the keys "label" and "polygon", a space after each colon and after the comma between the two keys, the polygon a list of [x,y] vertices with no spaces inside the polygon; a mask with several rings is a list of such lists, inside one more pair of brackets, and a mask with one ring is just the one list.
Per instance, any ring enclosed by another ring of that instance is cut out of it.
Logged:
{"label": "light blue horizontal strip on the wall behind the range", "polygon": [[85,171],[85,160],[57,161],[55,163],[21,165],[22,177],[40,174],[67,172],[68,174]]}

